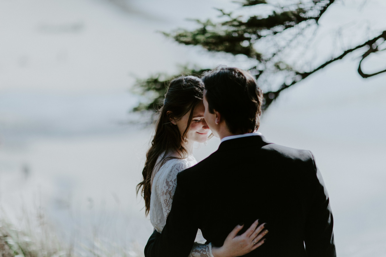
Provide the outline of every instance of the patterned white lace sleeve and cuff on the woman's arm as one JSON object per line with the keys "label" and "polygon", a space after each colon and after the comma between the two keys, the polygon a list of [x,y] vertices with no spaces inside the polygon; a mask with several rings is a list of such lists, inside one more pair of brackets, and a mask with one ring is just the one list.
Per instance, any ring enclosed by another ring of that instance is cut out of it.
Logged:
{"label": "patterned white lace sleeve and cuff on the woman's arm", "polygon": [[[169,167],[167,167],[169,166]],[[177,185],[177,174],[188,166],[184,162],[169,161],[169,165],[165,165],[163,168],[168,168],[170,172],[163,173],[164,176],[159,180],[158,193],[162,203],[162,209],[164,218],[168,218],[171,205],[173,202],[173,195],[176,191]],[[188,257],[213,257],[212,255],[212,244],[208,245],[203,243],[195,242],[193,248]]]}

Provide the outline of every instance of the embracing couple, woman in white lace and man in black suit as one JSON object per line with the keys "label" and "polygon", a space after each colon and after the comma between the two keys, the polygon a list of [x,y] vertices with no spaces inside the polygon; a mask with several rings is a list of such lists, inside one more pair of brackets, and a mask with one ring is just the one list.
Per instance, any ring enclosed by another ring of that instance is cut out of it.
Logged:
{"label": "embracing couple, woman in white lace and man in black suit", "polygon": [[[256,80],[237,68],[170,82],[137,187],[155,228],[146,257],[336,256],[315,159],[256,132],[261,104]],[[197,163],[193,143],[209,131],[220,146]]]}

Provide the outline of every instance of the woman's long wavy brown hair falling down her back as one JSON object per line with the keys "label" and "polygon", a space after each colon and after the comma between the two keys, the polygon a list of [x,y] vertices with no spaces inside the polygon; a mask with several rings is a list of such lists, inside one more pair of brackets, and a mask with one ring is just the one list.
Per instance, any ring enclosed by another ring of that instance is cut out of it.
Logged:
{"label": "woman's long wavy brown hair falling down her back", "polygon": [[[165,158],[170,152],[178,153],[181,158],[187,153],[183,146],[186,140],[186,133],[189,130],[190,122],[186,125],[184,133],[181,135],[176,125],[171,123],[171,119],[179,120],[190,111],[189,120],[192,120],[193,110],[203,98],[203,82],[195,76],[181,76],[173,79],[165,93],[163,105],[159,109],[156,132],[151,142],[151,147],[146,153],[146,162],[142,170],[143,181],[137,185],[137,194],[141,192],[145,200],[145,214],[149,214],[151,196],[151,177],[158,157],[161,158],[160,166],[171,158]],[[170,113],[168,113],[170,111]]]}

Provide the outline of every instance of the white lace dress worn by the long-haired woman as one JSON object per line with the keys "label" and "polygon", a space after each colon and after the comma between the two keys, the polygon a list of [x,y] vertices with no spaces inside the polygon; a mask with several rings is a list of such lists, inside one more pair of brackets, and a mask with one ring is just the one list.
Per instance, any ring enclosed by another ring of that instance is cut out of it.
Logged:
{"label": "white lace dress worn by the long-haired woman", "polygon": [[[163,156],[163,154],[161,154]],[[157,163],[161,161],[161,156]],[[153,227],[162,232],[166,224],[166,218],[169,215],[173,195],[176,190],[176,180],[178,172],[183,171],[193,165],[197,164],[193,156],[188,156],[185,159],[170,159],[166,161],[156,171],[154,178],[152,178],[151,197],[150,197],[150,221]],[[157,171],[158,170],[158,171]],[[201,231],[198,230],[197,237],[200,237]],[[201,235],[202,237],[202,235]],[[203,244],[195,242],[190,252],[189,257],[213,257],[212,244]]]}

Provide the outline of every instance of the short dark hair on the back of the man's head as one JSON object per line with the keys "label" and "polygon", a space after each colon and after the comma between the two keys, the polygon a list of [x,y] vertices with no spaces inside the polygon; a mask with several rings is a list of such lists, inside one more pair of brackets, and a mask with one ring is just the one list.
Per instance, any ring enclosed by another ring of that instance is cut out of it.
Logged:
{"label": "short dark hair on the back of the man's head", "polygon": [[220,67],[201,78],[210,113],[219,112],[233,134],[250,133],[259,128],[262,91],[256,79],[238,68]]}

